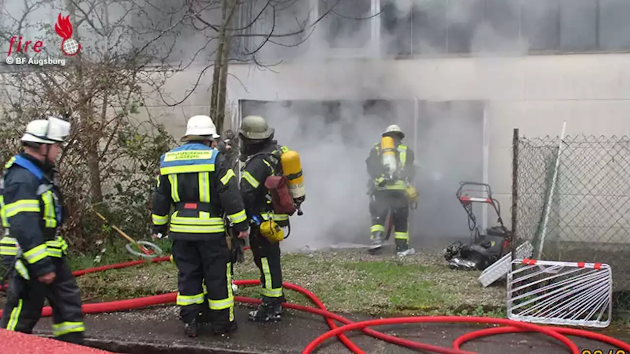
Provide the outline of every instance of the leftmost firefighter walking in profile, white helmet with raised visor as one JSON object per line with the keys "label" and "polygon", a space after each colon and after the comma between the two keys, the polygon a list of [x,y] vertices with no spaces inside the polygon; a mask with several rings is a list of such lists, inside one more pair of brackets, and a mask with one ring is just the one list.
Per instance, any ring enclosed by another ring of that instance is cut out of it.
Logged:
{"label": "leftmost firefighter walking in profile, white helmet with raised visor", "polygon": [[12,257],[13,274],[0,327],[32,333],[47,299],[53,336],[83,344],[81,291],[66,260],[67,243],[59,236],[64,207],[55,159],[69,131],[70,123],[56,117],[33,120],[21,138],[23,152],[4,166],[2,222],[15,253],[4,254]]}

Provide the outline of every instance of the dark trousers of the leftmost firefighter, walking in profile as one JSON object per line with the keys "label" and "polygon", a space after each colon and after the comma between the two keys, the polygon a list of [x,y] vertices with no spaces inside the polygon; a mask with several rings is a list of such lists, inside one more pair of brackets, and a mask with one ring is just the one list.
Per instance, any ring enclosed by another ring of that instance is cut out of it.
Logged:
{"label": "dark trousers of the leftmost firefighter, walking in profile", "polygon": [[47,299],[52,307],[53,336],[58,340],[83,344],[85,326],[81,312],[81,290],[66,257],[51,258],[56,277],[50,285],[39,282],[32,275],[30,280],[26,280],[16,271],[13,272],[0,327],[32,333],[42,316],[44,300]]}

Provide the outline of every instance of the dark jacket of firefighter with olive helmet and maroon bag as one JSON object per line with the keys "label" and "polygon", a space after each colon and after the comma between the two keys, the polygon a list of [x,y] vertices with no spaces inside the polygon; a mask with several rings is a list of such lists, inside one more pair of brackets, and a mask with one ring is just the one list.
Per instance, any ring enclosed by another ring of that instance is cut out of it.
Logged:
{"label": "dark jacket of firefighter with olive helmet and maroon bag", "polygon": [[[282,173],[279,157],[286,151],[289,148],[272,142],[260,152],[249,156],[241,169],[241,195],[247,215],[260,215],[263,220],[271,218],[281,227],[289,224],[289,215],[273,213],[272,198],[265,188],[265,180],[268,176]],[[278,154],[272,156],[272,152]]]}

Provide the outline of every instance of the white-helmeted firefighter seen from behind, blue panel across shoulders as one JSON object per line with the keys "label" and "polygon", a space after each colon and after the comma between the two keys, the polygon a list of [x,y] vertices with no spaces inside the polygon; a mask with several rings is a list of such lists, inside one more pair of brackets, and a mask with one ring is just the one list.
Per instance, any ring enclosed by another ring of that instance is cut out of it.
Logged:
{"label": "white-helmeted firefighter seen from behind, blue panel across shoulders", "polygon": [[[165,234],[168,227],[173,261],[179,270],[177,305],[184,332],[190,337],[197,336],[205,299],[214,334],[237,329],[231,251],[222,215],[227,214],[240,239],[248,236],[248,218],[234,170],[223,154],[210,147],[216,136],[210,117],[191,117],[181,139],[186,143],[160,159],[153,195],[154,237]],[[175,211],[169,216],[171,205]]]}

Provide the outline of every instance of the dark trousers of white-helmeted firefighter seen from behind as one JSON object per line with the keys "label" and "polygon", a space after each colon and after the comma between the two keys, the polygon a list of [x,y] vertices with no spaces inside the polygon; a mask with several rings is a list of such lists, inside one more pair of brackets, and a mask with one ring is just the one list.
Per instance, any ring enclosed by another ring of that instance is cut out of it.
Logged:
{"label": "dark trousers of white-helmeted firefighter seen from behind", "polygon": [[234,294],[231,252],[225,235],[211,234],[207,241],[175,239],[171,253],[178,269],[177,305],[181,320],[191,323],[205,312],[203,307],[208,304],[212,328],[217,331],[231,328]]}

